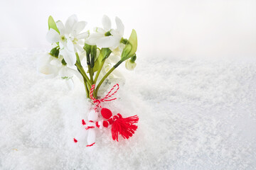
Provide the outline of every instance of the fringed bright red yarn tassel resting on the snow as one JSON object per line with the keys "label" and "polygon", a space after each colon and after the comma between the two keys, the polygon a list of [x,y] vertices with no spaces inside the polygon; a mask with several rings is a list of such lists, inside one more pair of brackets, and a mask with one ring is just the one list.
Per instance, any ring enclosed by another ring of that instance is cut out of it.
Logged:
{"label": "fringed bright red yarn tassel resting on the snow", "polygon": [[112,123],[112,138],[113,140],[117,140],[118,135],[122,135],[124,139],[129,139],[132,137],[135,130],[137,130],[138,126],[134,125],[134,123],[138,123],[139,117],[138,115],[134,115],[128,118],[122,118],[122,115],[119,113],[113,117],[114,123]]}

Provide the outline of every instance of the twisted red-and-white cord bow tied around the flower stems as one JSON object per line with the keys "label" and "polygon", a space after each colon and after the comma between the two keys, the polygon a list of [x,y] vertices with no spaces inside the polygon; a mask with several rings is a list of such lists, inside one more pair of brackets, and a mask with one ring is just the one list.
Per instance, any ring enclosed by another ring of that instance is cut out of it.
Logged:
{"label": "twisted red-and-white cord bow tied around the flower stems", "polygon": [[[112,92],[114,90],[114,88],[117,86],[117,89]],[[95,89],[95,84],[92,84],[92,88],[90,89],[90,98],[92,99],[93,103],[97,103],[96,106],[95,106],[95,111],[97,109],[97,107],[100,106],[100,103],[101,102],[104,102],[104,101],[114,101],[115,99],[117,98],[111,98],[114,94],[117,93],[118,89],[119,89],[119,84],[115,84],[112,89],[110,89],[110,91],[107,93],[107,95],[104,97],[104,98],[100,98],[100,99],[96,99],[93,97],[93,91]],[[111,94],[112,93],[112,94]],[[110,98],[110,99],[107,99],[107,98]],[[100,106],[100,108],[102,108],[102,106]]]}

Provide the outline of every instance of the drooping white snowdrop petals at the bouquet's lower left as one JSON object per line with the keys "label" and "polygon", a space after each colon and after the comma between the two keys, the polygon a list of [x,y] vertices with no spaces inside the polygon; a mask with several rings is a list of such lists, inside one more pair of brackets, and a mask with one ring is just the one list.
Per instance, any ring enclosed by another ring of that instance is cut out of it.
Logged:
{"label": "drooping white snowdrop petals at the bouquet's lower left", "polygon": [[82,76],[75,69],[71,69],[65,66],[61,61],[63,58],[59,57],[58,59],[47,54],[41,55],[38,57],[37,70],[41,76],[46,78],[60,77],[65,80],[65,83],[68,85],[69,89],[73,89],[73,76],[75,75],[82,81]]}

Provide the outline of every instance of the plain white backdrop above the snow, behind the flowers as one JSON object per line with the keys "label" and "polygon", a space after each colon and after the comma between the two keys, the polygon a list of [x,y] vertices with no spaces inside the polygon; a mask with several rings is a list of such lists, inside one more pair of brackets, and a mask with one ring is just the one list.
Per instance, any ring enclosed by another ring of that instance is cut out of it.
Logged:
{"label": "plain white backdrop above the snow, behind the flowers", "polygon": [[[255,57],[256,1],[34,1],[1,0],[1,42],[13,47],[47,47],[48,16],[71,14],[101,26],[106,14],[119,16],[129,36],[139,36],[141,55],[172,57]],[[114,25],[114,22],[112,22]]]}

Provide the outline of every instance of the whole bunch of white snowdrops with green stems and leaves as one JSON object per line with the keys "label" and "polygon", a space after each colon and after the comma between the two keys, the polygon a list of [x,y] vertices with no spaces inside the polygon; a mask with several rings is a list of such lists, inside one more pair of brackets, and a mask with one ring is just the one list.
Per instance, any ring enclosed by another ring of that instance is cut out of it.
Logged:
{"label": "whole bunch of white snowdrops with green stems and leaves", "polygon": [[[61,21],[55,22],[49,16],[46,40],[52,44],[53,49],[47,56],[43,56],[38,71],[48,77],[59,76],[69,82],[68,84],[73,84],[72,78],[76,75],[85,85],[87,98],[90,98],[92,84],[96,84],[93,96],[97,98],[102,83],[122,62],[126,61],[127,69],[136,67],[137,33],[132,30],[127,40],[123,38],[122,21],[116,17],[115,22],[117,28],[113,29],[110,18],[103,16],[103,28],[94,28],[93,33],[89,30],[80,33],[87,23],[78,21],[77,16],[70,16],[65,25]],[[113,66],[98,80],[102,67],[110,58],[114,58]],[[82,60],[86,60],[87,66],[82,66]]]}

